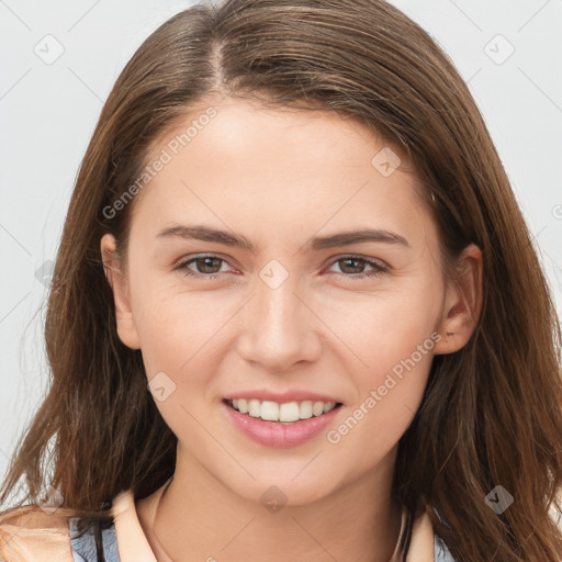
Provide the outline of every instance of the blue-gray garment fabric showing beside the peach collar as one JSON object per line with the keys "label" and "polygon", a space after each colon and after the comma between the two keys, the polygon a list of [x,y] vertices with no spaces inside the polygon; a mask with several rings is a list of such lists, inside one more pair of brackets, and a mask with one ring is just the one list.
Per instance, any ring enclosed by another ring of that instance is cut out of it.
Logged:
{"label": "blue-gray garment fabric showing beside the peach collar", "polygon": [[[93,529],[90,527],[82,537],[77,538],[76,518],[71,517],[68,526],[70,529],[74,562],[98,562]],[[117,536],[115,535],[114,526],[102,530],[102,542],[105,562],[120,562]],[[437,536],[435,537],[435,562],[454,562],[451,553]]]}

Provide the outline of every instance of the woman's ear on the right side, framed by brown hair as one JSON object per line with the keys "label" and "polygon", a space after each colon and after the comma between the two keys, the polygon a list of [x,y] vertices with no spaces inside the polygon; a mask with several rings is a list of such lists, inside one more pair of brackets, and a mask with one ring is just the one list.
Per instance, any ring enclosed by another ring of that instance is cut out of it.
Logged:
{"label": "woman's ear on the right side, framed by brown hair", "polygon": [[461,252],[459,274],[446,284],[442,317],[438,331],[441,339],[435,355],[452,353],[469,341],[482,307],[482,251],[471,244]]}

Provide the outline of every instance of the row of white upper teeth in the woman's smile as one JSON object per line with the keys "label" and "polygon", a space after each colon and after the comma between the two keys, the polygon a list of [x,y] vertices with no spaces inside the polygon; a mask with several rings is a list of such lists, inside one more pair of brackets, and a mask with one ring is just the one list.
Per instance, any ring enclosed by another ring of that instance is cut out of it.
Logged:
{"label": "row of white upper teeth in the woman's smile", "polygon": [[279,404],[271,401],[259,401],[256,398],[234,398],[232,405],[240,414],[248,414],[251,417],[260,417],[266,422],[291,423],[299,419],[308,419],[313,416],[322,416],[336,406],[335,402],[285,402]]}

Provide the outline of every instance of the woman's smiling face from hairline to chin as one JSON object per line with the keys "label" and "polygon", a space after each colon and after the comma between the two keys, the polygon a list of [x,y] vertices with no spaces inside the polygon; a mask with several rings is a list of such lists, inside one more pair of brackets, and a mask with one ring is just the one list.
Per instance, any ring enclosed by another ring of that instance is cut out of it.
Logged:
{"label": "woman's smiling face from hairline to chin", "polygon": [[[110,274],[117,329],[182,458],[245,498],[312,502],[393,464],[456,296],[403,155],[333,113],[214,108],[186,146],[205,106],[154,145]],[[292,402],[306,419],[257,417]]]}

